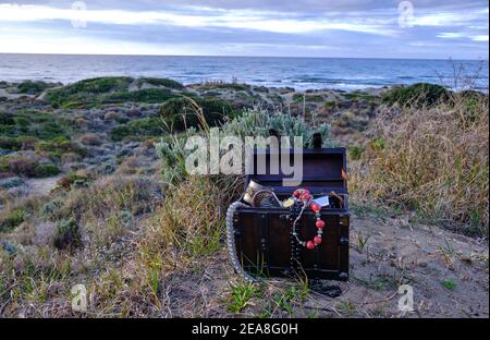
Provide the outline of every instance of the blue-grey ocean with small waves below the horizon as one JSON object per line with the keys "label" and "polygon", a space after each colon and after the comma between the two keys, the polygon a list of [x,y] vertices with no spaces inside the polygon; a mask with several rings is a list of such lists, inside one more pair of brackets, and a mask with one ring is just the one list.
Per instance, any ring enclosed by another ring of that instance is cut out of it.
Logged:
{"label": "blue-grey ocean with small waves below the horizon", "polygon": [[128,75],[170,77],[183,84],[236,81],[295,89],[353,90],[419,82],[454,87],[455,73],[474,81],[478,89],[488,88],[488,60],[0,54],[0,81],[8,82],[66,84]]}

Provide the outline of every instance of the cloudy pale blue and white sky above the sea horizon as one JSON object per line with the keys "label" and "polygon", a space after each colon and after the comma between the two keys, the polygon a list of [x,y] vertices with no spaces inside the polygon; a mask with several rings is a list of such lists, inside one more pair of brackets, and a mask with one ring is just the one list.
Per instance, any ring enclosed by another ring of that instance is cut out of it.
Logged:
{"label": "cloudy pale blue and white sky above the sea horizon", "polygon": [[488,60],[488,0],[0,0],[0,53]]}

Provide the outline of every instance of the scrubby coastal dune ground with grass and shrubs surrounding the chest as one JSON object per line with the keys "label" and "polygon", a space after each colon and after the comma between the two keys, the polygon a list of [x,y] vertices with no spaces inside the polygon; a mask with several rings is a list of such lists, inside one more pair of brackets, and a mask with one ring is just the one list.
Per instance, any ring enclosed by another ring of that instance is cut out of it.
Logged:
{"label": "scrubby coastal dune ground with grass and shrubs surrounding the chest", "polygon": [[[148,77],[14,92],[0,100],[2,316],[73,316],[79,283],[89,317],[396,316],[384,296],[403,283],[451,316],[488,313],[486,94]],[[243,179],[184,170],[186,138],[211,126],[240,137],[274,129],[305,147],[319,132],[324,147],[347,147],[353,279],[343,296],[233,274],[224,215]]]}

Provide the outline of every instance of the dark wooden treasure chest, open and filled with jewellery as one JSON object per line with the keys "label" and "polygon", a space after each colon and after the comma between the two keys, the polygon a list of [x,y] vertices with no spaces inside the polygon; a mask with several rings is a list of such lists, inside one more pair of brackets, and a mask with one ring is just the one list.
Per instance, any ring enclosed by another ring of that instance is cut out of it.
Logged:
{"label": "dark wooden treasure chest, open and filled with jewellery", "polygon": [[[293,149],[275,154],[281,160],[289,157],[293,162]],[[345,148],[303,149],[303,181],[297,186],[284,186],[287,177],[281,170],[271,171],[271,155],[270,149],[253,153],[254,167],[245,180],[244,197],[229,209],[228,242],[235,270],[248,279],[257,275],[299,275],[308,279],[347,280],[350,212]],[[257,171],[259,157],[265,167]],[[253,202],[256,186],[258,191],[271,191],[282,204]],[[302,206],[294,208],[291,202],[285,203],[293,198],[297,205],[294,195],[299,196],[298,192],[309,193],[311,199],[299,216]],[[317,201],[321,208],[315,206]],[[322,222],[318,224],[318,220]]]}

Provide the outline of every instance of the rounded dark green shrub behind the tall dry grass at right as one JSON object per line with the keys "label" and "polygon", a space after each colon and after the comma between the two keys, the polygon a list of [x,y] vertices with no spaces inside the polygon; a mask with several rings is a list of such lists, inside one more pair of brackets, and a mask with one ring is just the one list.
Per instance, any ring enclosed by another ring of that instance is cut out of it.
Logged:
{"label": "rounded dark green shrub behind the tall dry grass at right", "polygon": [[394,87],[382,96],[388,105],[399,104],[403,107],[432,107],[450,99],[450,92],[441,85],[418,83],[406,87]]}

